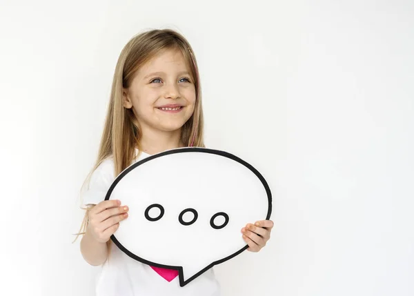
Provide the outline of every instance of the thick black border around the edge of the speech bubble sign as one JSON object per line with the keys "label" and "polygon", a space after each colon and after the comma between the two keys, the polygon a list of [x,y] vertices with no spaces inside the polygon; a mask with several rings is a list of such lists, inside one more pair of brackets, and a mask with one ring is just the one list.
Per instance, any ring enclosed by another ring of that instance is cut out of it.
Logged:
{"label": "thick black border around the edge of the speech bubble sign", "polygon": [[[264,177],[260,174],[260,172],[258,170],[256,170],[255,168],[253,168],[253,166],[248,164],[246,161],[244,161],[243,159],[240,159],[239,157],[237,157],[235,155],[232,155],[228,152],[224,152],[224,151],[221,151],[221,150],[214,150],[214,149],[210,149],[210,148],[199,148],[199,147],[177,148],[177,149],[172,149],[172,150],[167,150],[167,151],[164,151],[164,152],[160,152],[156,155],[150,155],[150,156],[146,157],[145,159],[141,159],[140,161],[137,161],[135,164],[132,164],[131,166],[126,168],[123,172],[121,172],[121,174],[119,174],[119,176],[115,179],[115,181],[113,181],[112,185],[108,189],[108,193],[106,193],[105,200],[108,200],[110,198],[110,195],[111,195],[112,191],[114,190],[115,186],[117,186],[119,181],[121,181],[121,179],[126,174],[128,174],[128,172],[130,172],[131,170],[133,170],[137,166],[140,166],[141,164],[145,164],[147,161],[150,161],[151,159],[155,159],[155,158],[158,158],[158,157],[163,157],[165,155],[170,155],[170,154],[175,154],[175,153],[183,153],[183,152],[203,152],[203,153],[210,153],[210,154],[220,155],[222,157],[227,157],[229,159],[233,159],[234,161],[239,162],[239,164],[242,164],[242,165],[246,166],[246,168],[251,170],[259,178],[259,180],[262,181],[262,184],[263,184],[263,186],[266,190],[266,194],[267,194],[267,197],[268,197],[268,213],[267,213],[265,219],[266,220],[270,219],[270,215],[272,213],[272,193],[270,192],[270,188],[269,188],[266,180],[264,179]],[[213,266],[221,264],[223,262],[226,262],[227,260],[229,260],[233,257],[236,257],[237,255],[242,253],[244,250],[247,250],[247,248],[248,248],[248,245],[246,244],[246,246],[244,246],[240,250],[237,250],[237,252],[235,252],[231,255],[228,255],[225,258],[222,258],[222,259],[219,259],[215,262],[212,262],[211,264],[209,264],[205,268],[201,269],[198,273],[196,273],[195,275],[193,275],[192,277],[188,278],[185,281],[184,276],[183,276],[182,266],[168,266],[168,265],[164,265],[164,264],[157,264],[155,262],[150,262],[150,261],[148,261],[144,258],[141,258],[141,257],[138,257],[137,255],[132,254],[129,250],[127,250],[124,246],[122,246],[122,244],[115,237],[115,234],[111,235],[110,238],[112,239],[114,244],[117,245],[119,249],[121,249],[122,252],[124,252],[126,255],[128,255],[132,259],[135,259],[135,260],[137,260],[141,263],[144,263],[144,264],[148,264],[149,266],[155,266],[155,267],[159,267],[159,268],[168,268],[168,269],[178,270],[179,286],[181,286],[181,287],[186,286],[186,284],[193,281],[193,279],[196,279],[197,277],[199,277],[200,275],[205,273],[207,270],[209,270]]]}

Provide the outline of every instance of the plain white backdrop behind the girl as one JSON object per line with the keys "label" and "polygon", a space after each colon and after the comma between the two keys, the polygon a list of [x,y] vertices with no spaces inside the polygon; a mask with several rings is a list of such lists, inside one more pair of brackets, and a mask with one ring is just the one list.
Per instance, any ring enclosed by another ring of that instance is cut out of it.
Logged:
{"label": "plain white backdrop behind the girl", "polygon": [[0,0],[0,295],[94,295],[72,243],[115,64],[174,28],[206,144],[258,168],[275,228],[223,295],[414,295],[413,1]]}

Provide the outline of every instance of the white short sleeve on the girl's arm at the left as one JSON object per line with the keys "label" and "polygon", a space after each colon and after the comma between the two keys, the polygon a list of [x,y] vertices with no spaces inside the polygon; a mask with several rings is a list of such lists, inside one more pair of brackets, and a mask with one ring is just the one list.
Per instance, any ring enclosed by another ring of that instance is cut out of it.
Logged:
{"label": "white short sleeve on the girl's arm at the left", "polygon": [[105,160],[92,172],[81,193],[84,208],[99,204],[105,199],[106,193],[115,179],[113,167],[112,161]]}

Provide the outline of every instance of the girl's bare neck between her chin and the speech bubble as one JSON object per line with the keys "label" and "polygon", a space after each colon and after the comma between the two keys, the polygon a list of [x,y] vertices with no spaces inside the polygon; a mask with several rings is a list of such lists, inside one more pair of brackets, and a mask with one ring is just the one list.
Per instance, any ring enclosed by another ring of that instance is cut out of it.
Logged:
{"label": "girl's bare neck between her chin and the speech bubble", "polygon": [[184,144],[181,143],[181,130],[172,132],[148,129],[143,130],[140,144],[141,150],[149,155],[184,147]]}

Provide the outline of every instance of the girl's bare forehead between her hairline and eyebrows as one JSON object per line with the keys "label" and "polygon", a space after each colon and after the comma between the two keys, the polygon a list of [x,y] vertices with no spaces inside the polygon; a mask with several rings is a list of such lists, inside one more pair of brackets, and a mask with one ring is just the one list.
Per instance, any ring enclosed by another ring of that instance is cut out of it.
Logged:
{"label": "girl's bare forehead between her hairline and eyebrows", "polygon": [[144,63],[138,70],[139,74],[148,72],[188,71],[183,54],[179,50],[163,50],[155,57]]}

